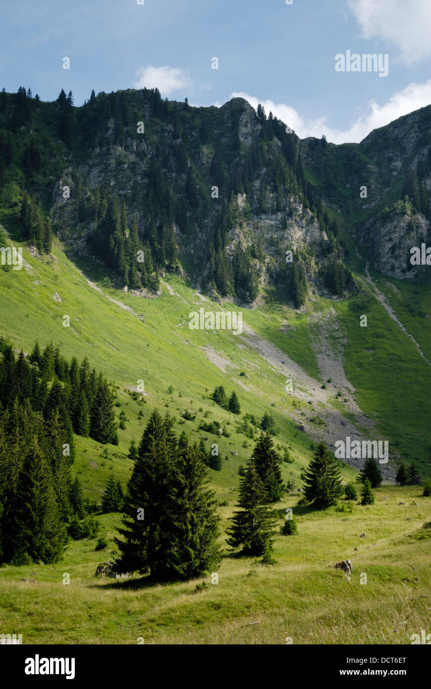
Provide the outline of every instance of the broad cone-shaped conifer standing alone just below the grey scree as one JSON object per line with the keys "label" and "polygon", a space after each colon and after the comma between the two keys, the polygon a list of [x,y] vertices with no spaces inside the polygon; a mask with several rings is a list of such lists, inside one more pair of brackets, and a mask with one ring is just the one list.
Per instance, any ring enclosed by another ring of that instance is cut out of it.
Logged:
{"label": "broad cone-shaped conifer standing alone just below the grey scree", "polygon": [[304,477],[304,495],[315,507],[329,507],[343,493],[335,456],[319,442]]}

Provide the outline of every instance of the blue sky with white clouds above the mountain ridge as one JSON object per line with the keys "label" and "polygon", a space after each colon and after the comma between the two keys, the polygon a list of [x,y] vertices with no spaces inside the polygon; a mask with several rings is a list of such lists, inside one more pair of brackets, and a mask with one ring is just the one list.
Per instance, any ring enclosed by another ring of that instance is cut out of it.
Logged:
{"label": "blue sky with white clouds above the mountain ridge", "polygon": [[[93,88],[240,94],[301,137],[360,141],[431,103],[430,37],[431,0],[20,0],[0,8],[0,88],[45,101],[64,88],[76,105]],[[388,76],[336,72],[346,50],[388,54]]]}

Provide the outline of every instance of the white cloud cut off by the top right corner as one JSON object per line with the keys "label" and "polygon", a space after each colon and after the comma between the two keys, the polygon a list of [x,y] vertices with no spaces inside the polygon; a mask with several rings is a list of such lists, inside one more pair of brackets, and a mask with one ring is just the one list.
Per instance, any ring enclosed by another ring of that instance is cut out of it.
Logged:
{"label": "white cloud cut off by the top right corner", "polygon": [[430,0],[348,0],[365,39],[381,39],[407,65],[431,55]]}

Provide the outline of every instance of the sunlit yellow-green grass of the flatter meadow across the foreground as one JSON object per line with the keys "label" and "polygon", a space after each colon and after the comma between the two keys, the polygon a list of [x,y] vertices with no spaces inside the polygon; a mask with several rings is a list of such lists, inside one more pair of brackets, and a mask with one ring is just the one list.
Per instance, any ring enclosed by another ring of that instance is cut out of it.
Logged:
{"label": "sunlit yellow-green grass of the flatter meadow across the foreground", "polygon": [[[286,644],[288,637],[293,644],[410,644],[410,635],[430,628],[430,529],[421,526],[431,502],[414,486],[375,493],[375,505],[355,504],[347,515],[297,508],[297,496],[288,496],[276,506],[279,524],[293,507],[298,535],[277,537],[276,564],[225,553],[218,584],[209,573],[201,591],[202,579],[165,586],[138,576],[94,579],[98,563],[116,552],[119,515],[103,515],[105,551],[85,539],[71,542],[56,565],[1,568],[1,628],[21,633],[24,644],[136,644],[138,637],[145,644]],[[231,510],[220,512],[226,524]],[[353,562],[350,581],[333,568],[341,559]]]}

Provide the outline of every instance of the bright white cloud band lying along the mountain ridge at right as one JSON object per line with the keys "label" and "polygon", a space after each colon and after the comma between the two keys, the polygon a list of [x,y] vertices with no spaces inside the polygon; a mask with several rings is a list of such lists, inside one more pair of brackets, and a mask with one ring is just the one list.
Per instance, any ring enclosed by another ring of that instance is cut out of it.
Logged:
{"label": "bright white cloud band lying along the mountain ridge at right", "polygon": [[[409,84],[403,91],[391,96],[383,105],[379,105],[376,101],[370,101],[368,112],[359,117],[346,130],[328,127],[326,117],[305,119],[294,107],[284,105],[284,103],[260,101],[246,93],[233,93],[229,96],[229,100],[231,98],[244,98],[254,108],[257,107],[258,103],[262,103],[266,115],[272,112],[275,117],[291,127],[299,138],[306,138],[307,136],[320,138],[322,134],[325,134],[328,141],[332,141],[332,143],[359,143],[373,129],[383,127],[402,115],[429,105],[431,103],[431,79],[425,83]],[[215,105],[220,104],[215,103]]]}

